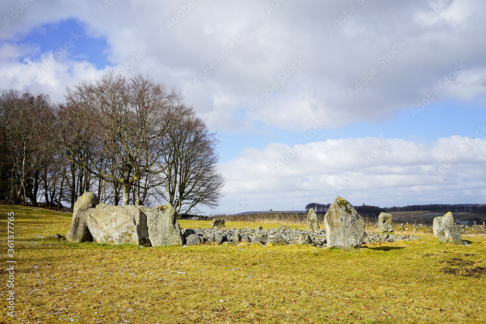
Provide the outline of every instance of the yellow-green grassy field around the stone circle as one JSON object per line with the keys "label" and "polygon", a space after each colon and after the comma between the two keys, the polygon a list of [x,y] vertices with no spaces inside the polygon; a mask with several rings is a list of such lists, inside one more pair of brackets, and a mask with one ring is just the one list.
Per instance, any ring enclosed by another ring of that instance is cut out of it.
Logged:
{"label": "yellow-green grassy field around the stone circle", "polygon": [[[15,212],[15,318],[5,301],[7,212]],[[485,236],[455,246],[418,234],[352,251],[140,248],[54,239],[69,214],[7,205],[0,214],[1,323],[486,323]],[[278,227],[226,223],[257,225]]]}

